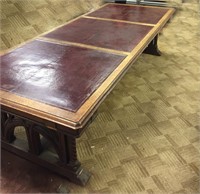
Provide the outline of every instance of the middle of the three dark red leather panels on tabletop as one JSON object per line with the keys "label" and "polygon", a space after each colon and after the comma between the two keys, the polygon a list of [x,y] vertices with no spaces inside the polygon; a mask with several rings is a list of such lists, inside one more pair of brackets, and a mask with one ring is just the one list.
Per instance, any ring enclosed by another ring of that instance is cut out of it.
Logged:
{"label": "middle of the three dark red leather panels on tabletop", "polygon": [[80,18],[45,37],[130,52],[151,26]]}

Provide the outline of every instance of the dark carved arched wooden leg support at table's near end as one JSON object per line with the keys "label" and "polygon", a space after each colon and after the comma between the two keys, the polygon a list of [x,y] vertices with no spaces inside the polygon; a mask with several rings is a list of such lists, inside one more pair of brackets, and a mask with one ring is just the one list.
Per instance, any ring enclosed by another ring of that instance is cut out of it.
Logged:
{"label": "dark carved arched wooden leg support at table's near end", "polygon": [[[76,139],[73,135],[41,126],[4,111],[1,114],[1,121],[2,148],[48,168],[79,185],[85,185],[88,182],[91,174],[81,167],[77,159]],[[14,136],[15,127],[18,126],[26,130],[28,148]],[[47,148],[44,149],[41,143],[42,137],[49,142],[56,153]]]}

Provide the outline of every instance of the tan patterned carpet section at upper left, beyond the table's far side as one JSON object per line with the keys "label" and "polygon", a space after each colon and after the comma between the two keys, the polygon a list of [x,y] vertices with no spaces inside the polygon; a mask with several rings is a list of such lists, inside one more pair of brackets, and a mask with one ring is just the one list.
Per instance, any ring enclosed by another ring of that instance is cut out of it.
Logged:
{"label": "tan patterned carpet section at upper left, beyond the table's far side", "polygon": [[1,42],[5,50],[91,9],[101,0],[0,0]]}

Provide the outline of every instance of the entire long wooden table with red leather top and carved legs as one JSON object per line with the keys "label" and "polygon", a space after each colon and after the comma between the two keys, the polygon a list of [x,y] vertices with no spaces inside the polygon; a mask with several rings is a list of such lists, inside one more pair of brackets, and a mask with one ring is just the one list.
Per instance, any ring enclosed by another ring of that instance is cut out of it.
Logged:
{"label": "entire long wooden table with red leather top and carved legs", "polygon": [[[1,56],[2,148],[85,185],[76,138],[143,51],[160,55],[158,33],[173,12],[106,4]],[[18,126],[26,143],[15,137]]]}

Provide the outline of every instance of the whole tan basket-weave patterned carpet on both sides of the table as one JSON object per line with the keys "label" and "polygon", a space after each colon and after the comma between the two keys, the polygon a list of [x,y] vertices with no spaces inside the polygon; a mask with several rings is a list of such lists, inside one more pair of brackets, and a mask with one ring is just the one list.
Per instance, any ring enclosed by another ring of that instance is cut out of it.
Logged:
{"label": "whole tan basket-weave patterned carpet on both sides of the table", "polygon": [[[1,50],[100,3],[1,0]],[[85,187],[3,152],[2,193],[200,193],[199,6],[179,3],[159,37],[162,56],[139,57],[78,139],[92,173]]]}

